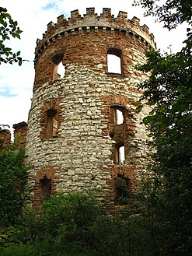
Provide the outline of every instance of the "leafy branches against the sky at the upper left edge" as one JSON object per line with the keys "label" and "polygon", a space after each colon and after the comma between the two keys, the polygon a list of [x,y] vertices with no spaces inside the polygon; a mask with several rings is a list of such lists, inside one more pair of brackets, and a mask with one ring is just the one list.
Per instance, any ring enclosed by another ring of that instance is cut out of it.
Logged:
{"label": "leafy branches against the sky at the upper left edge", "polygon": [[15,53],[12,48],[6,47],[6,40],[10,40],[10,37],[20,39],[20,33],[22,30],[19,29],[18,23],[12,19],[7,9],[0,7],[0,64],[16,62],[22,65],[20,51]]}

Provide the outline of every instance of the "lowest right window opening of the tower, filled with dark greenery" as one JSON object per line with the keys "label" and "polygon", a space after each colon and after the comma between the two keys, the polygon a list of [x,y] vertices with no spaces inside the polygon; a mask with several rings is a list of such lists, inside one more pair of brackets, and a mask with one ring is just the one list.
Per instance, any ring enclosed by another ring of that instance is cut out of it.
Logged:
{"label": "lowest right window opening of the tower, filled with dark greenery", "polygon": [[114,204],[127,205],[129,195],[128,180],[124,177],[117,177],[114,180],[114,189]]}

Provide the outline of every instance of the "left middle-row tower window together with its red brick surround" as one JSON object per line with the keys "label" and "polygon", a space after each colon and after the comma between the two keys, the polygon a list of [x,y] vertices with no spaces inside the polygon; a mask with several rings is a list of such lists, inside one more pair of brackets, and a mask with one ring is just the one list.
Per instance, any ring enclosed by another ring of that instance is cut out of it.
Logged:
{"label": "left middle-row tower window together with its red brick surround", "polygon": [[58,100],[50,100],[44,103],[40,114],[40,138],[49,140],[60,136],[59,129],[61,121],[64,120],[61,110],[61,98]]}

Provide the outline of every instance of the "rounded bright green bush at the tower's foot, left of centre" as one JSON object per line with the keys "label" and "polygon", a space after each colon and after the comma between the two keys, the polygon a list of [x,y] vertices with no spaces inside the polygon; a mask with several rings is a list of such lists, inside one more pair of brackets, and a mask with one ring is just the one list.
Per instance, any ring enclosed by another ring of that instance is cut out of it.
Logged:
{"label": "rounded bright green bush at the tower's foot, left of centre", "polygon": [[92,195],[54,195],[44,202],[42,212],[23,212],[19,240],[33,244],[46,240],[61,251],[86,251],[92,244],[89,226],[103,213]]}

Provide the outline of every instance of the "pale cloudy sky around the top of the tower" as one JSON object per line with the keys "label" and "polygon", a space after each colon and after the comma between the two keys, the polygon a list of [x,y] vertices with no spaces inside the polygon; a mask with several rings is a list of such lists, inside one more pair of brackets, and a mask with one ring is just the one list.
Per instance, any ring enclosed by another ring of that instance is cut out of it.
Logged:
{"label": "pale cloudy sky around the top of the tower", "polygon": [[86,8],[95,7],[100,15],[103,8],[110,8],[117,17],[119,11],[127,12],[127,19],[134,16],[140,19],[141,26],[146,24],[149,33],[155,36],[155,42],[161,51],[180,51],[186,37],[186,24],[169,32],[162,23],[155,23],[155,18],[144,17],[144,9],[133,7],[133,0],[1,0],[13,20],[18,22],[23,30],[21,39],[9,40],[14,51],[21,51],[21,56],[27,61],[19,67],[17,64],[0,65],[0,124],[8,124],[12,132],[12,124],[26,121],[33,96],[34,82],[34,51],[37,38],[47,30],[51,21],[57,23],[57,17],[64,14],[70,17],[71,11],[79,9],[80,14],[86,13]]}

